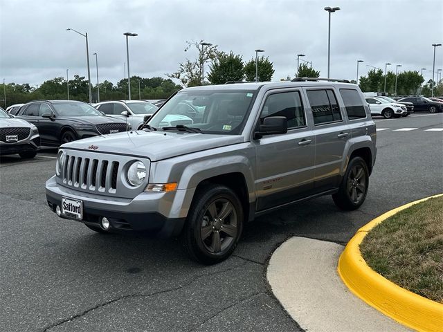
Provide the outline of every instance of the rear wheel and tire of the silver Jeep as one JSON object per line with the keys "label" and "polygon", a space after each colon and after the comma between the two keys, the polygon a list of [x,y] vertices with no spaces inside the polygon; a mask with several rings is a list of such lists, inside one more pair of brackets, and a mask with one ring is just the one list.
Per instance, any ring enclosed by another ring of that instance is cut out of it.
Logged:
{"label": "rear wheel and tire of the silver Jeep", "polygon": [[[361,172],[361,173],[360,173]],[[360,208],[368,194],[368,165],[361,157],[354,157],[347,165],[345,176],[336,194],[332,194],[334,203],[342,210]]]}

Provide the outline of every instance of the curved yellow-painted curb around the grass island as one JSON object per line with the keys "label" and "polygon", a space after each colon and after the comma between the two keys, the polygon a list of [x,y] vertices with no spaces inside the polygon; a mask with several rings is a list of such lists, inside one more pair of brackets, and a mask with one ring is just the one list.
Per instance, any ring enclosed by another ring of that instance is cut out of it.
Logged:
{"label": "curved yellow-painted curb around the grass island", "polygon": [[372,228],[393,214],[440,196],[443,194],[402,205],[370,221],[356,232],[338,260],[338,275],[352,293],[393,320],[417,331],[443,331],[443,304],[407,291],[376,273],[361,257],[359,246]]}

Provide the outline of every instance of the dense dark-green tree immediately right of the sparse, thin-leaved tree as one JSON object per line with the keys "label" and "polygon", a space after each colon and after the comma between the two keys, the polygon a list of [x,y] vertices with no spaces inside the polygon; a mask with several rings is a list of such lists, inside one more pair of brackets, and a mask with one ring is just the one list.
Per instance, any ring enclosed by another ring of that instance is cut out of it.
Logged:
{"label": "dense dark-green tree immediately right of the sparse, thin-leaved tree", "polygon": [[243,60],[241,55],[235,55],[232,51],[227,54],[220,52],[210,64],[208,80],[212,84],[225,84],[228,81],[242,81]]}

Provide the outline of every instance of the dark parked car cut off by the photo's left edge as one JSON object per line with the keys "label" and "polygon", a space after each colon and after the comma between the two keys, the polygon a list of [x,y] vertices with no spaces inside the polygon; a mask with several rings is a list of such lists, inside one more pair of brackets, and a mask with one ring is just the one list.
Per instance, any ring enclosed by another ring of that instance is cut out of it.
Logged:
{"label": "dark parked car cut off by the photo's left edge", "polygon": [[34,158],[39,148],[37,127],[0,109],[0,156],[19,154],[21,158]]}

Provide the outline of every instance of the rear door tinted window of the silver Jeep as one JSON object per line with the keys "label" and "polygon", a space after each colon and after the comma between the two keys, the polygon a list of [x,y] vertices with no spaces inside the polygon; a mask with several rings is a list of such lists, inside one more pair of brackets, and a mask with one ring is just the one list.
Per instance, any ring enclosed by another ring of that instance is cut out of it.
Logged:
{"label": "rear door tinted window of the silver Jeep", "polygon": [[311,104],[314,124],[341,120],[340,108],[332,90],[309,90],[307,98]]}

